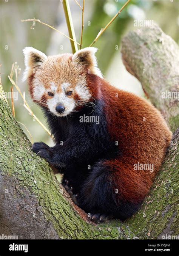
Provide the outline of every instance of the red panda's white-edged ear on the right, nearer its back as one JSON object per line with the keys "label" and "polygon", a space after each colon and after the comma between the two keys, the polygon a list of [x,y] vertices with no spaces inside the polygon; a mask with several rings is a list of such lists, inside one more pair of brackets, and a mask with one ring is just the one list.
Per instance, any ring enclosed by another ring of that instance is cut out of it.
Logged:
{"label": "red panda's white-edged ear on the right, nearer its back", "polygon": [[100,69],[97,68],[96,52],[97,48],[86,47],[74,53],[72,60],[81,66],[87,67],[89,72],[102,78],[102,73]]}

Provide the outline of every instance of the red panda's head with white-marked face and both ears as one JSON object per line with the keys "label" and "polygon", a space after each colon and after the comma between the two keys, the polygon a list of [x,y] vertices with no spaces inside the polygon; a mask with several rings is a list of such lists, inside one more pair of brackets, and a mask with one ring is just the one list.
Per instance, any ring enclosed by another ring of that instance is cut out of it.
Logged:
{"label": "red panda's head with white-marked face and both ears", "polygon": [[32,47],[23,50],[25,72],[32,99],[56,116],[66,116],[86,104],[94,89],[88,74],[102,78],[95,57],[97,49],[87,47],[74,55],[64,53],[47,57]]}

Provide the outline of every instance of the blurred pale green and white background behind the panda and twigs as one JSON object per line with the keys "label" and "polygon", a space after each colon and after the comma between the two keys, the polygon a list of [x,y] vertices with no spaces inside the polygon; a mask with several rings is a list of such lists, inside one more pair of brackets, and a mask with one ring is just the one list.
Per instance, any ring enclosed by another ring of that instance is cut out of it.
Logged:
{"label": "blurred pale green and white background behind the panda and twigs", "polygon": [[[82,6],[83,1],[78,0],[78,2]],[[127,0],[85,0],[82,47],[91,44],[100,29],[105,27],[125,2]],[[76,38],[79,42],[82,10],[75,0],[69,0],[69,4]],[[30,101],[27,83],[21,81],[25,68],[22,50],[26,46],[32,46],[45,52],[46,55],[55,55],[71,52],[71,44],[67,38],[45,25],[36,22],[31,28],[32,22],[21,22],[21,20],[35,17],[68,35],[62,0],[0,0],[0,16],[0,64],[2,64],[3,89],[5,92],[11,90],[8,75],[11,72],[12,63],[17,61],[21,68],[18,85],[21,91],[26,93],[26,100],[32,111],[48,127],[40,107]],[[178,43],[179,0],[131,0],[94,44],[99,49],[97,60],[105,78],[118,88],[144,97],[139,81],[125,70],[120,55],[121,39],[128,31],[139,28],[134,26],[134,20],[137,19],[156,22],[166,34]],[[14,91],[16,91],[15,88]],[[11,107],[11,99],[8,98],[8,102]],[[14,101],[14,104],[15,118],[25,124],[34,142],[44,141],[52,146],[51,137],[23,107],[23,101],[19,94],[18,100]],[[22,129],[31,140],[24,126]]]}

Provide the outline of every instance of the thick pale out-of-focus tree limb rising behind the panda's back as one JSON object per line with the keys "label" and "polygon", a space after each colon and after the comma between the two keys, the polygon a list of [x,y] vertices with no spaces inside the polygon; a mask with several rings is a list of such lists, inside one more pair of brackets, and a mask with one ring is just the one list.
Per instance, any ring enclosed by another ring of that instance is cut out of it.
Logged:
{"label": "thick pale out-of-focus tree limb rising behind the panda's back", "polygon": [[174,132],[179,127],[178,45],[154,25],[130,31],[122,40],[121,52],[127,71],[141,82]]}

